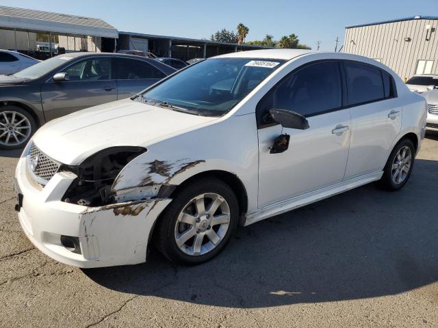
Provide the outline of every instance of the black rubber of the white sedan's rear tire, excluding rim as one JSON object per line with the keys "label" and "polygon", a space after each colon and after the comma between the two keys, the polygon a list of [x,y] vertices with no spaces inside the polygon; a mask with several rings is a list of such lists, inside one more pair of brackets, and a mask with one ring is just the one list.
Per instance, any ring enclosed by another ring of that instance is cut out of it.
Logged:
{"label": "black rubber of the white sedan's rear tire, excluding rim", "polygon": [[[396,183],[394,182],[394,178],[393,178],[392,166],[394,164],[394,159],[396,158],[398,152],[400,151],[400,149],[404,147],[408,147],[409,150],[411,150],[411,165],[409,167],[409,172],[407,172],[405,178],[400,183]],[[387,191],[397,191],[402,189],[404,184],[408,182],[409,177],[411,176],[414,163],[415,163],[415,146],[413,145],[413,142],[409,139],[402,139],[398,141],[398,143],[392,150],[391,154],[389,155],[388,161],[385,165],[385,169],[383,169],[383,176],[379,181],[380,187]]]}

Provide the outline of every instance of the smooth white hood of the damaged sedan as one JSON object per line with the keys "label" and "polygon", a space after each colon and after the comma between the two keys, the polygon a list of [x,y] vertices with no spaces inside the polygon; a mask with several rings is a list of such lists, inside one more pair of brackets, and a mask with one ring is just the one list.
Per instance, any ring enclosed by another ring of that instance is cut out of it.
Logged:
{"label": "smooth white hood of the damaged sedan", "polygon": [[205,117],[124,99],[90,107],[53,120],[33,141],[42,152],[64,164],[78,165],[112,146],[143,146],[207,124]]}

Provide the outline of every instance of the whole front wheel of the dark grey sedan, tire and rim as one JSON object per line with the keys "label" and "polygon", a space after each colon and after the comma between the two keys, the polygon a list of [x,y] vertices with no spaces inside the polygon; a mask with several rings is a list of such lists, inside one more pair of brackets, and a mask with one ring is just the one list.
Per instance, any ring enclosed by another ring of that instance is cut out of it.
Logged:
{"label": "whole front wheel of the dark grey sedan, tire and rim", "polygon": [[0,149],[23,148],[35,131],[36,122],[28,111],[13,105],[0,107]]}

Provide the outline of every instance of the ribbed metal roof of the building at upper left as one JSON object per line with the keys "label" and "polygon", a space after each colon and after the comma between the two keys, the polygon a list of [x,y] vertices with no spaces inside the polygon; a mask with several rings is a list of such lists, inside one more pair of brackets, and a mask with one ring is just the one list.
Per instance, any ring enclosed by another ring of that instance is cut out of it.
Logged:
{"label": "ribbed metal roof of the building at upper left", "polygon": [[0,5],[0,28],[118,38],[118,31],[99,18],[43,12]]}

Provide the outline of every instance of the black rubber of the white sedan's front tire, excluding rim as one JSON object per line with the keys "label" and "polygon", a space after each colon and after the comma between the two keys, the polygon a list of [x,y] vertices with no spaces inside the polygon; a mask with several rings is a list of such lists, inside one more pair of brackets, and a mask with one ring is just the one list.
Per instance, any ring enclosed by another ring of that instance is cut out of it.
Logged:
{"label": "black rubber of the white sedan's front tire, excluding rim", "polygon": [[[218,245],[206,254],[188,255],[179,248],[175,240],[177,219],[190,200],[204,193],[216,193],[227,202],[230,214],[228,230]],[[189,182],[183,189],[177,191],[172,202],[166,207],[158,219],[157,227],[153,232],[153,243],[157,249],[172,262],[185,265],[201,264],[214,258],[214,256],[218,255],[220,251],[224,249],[237,229],[238,221],[239,204],[229,185],[218,178],[200,178],[200,180]]]}

